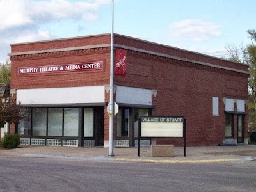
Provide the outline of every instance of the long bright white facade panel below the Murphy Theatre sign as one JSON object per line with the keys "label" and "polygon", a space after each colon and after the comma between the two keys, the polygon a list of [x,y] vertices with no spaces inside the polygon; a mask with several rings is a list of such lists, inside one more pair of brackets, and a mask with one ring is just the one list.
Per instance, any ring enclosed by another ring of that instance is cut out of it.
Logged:
{"label": "long bright white facade panel below the Murphy Theatre sign", "polygon": [[105,102],[104,86],[68,88],[37,88],[17,90],[17,103],[33,104],[78,104]]}

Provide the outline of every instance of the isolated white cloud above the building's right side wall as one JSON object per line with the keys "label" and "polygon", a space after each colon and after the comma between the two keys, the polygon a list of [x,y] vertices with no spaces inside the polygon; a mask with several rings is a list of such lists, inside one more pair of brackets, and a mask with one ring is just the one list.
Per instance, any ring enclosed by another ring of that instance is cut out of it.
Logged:
{"label": "isolated white cloud above the building's right side wall", "polygon": [[203,41],[220,36],[221,25],[200,20],[185,19],[170,24],[170,38],[173,40]]}

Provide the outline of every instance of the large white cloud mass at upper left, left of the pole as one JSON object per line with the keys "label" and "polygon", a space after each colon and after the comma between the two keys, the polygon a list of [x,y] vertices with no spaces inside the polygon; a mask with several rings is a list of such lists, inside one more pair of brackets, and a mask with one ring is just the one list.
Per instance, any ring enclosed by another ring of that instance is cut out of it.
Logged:
{"label": "large white cloud mass at upper left, left of the pole", "polygon": [[[58,38],[42,24],[63,20],[97,20],[100,6],[110,0],[0,0],[0,62],[6,60],[10,44]],[[81,26],[78,29],[84,28]]]}

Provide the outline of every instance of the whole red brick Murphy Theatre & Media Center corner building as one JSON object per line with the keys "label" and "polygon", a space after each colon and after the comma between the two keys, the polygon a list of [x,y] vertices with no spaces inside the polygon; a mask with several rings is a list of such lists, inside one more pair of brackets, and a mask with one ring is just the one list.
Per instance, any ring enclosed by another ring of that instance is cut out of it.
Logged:
{"label": "whole red brick Murphy Theatre & Media Center corner building", "polygon": [[[110,34],[12,44],[12,97],[28,118],[23,144],[109,146]],[[187,145],[248,143],[248,66],[115,34],[127,74],[115,76],[116,146],[138,143],[138,118],[185,116]],[[147,143],[182,145],[175,138]]]}

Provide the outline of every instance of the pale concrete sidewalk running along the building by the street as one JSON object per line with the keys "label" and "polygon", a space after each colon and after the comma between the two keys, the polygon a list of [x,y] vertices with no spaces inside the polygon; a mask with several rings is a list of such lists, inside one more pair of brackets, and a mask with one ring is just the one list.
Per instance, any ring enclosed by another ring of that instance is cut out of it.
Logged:
{"label": "pale concrete sidewalk running along the building by the street", "polygon": [[114,156],[109,148],[103,147],[54,147],[20,145],[19,148],[0,149],[0,157],[41,157],[93,161],[136,161],[152,163],[218,163],[241,159],[256,160],[256,145],[175,147],[174,157],[151,157],[150,147],[114,148]]}

